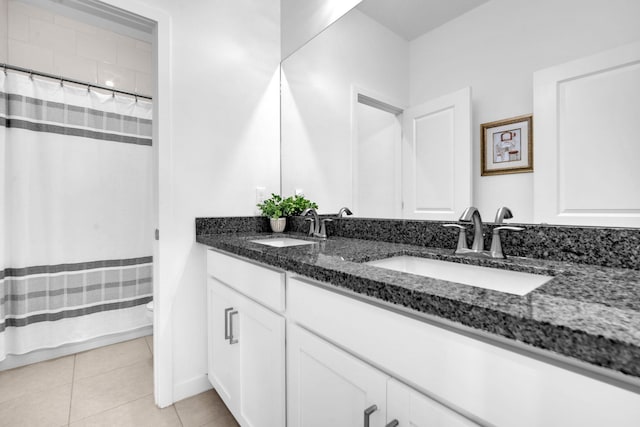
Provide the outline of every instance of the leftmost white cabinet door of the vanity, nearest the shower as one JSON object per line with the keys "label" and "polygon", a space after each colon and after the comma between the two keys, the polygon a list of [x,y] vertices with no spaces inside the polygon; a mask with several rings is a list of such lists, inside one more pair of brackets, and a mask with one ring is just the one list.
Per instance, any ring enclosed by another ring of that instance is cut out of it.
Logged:
{"label": "leftmost white cabinet door of the vanity, nearest the shower", "polygon": [[209,277],[207,280],[208,377],[224,403],[232,409],[239,396],[240,350],[228,337],[230,332],[237,335],[238,331],[237,295],[216,279]]}

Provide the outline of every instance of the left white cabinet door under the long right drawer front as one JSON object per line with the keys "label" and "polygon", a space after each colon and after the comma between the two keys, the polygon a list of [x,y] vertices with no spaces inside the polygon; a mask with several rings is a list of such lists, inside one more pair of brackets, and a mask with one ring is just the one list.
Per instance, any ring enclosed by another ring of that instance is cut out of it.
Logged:
{"label": "left white cabinet door under the long right drawer front", "polygon": [[385,425],[386,375],[300,327],[288,332],[289,427]]}

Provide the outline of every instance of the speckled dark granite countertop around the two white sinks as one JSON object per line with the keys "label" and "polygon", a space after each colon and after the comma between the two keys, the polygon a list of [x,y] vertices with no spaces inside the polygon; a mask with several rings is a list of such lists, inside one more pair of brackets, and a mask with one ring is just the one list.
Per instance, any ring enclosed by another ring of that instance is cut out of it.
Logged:
{"label": "speckled dark granite countertop around the two white sinks", "polygon": [[[303,238],[304,235],[285,234]],[[359,294],[458,322],[640,380],[640,271],[511,257],[464,258],[450,249],[344,237],[275,248],[271,233],[198,235],[199,243]],[[279,236],[282,236],[280,234]],[[554,276],[513,295],[363,264],[413,255]]]}

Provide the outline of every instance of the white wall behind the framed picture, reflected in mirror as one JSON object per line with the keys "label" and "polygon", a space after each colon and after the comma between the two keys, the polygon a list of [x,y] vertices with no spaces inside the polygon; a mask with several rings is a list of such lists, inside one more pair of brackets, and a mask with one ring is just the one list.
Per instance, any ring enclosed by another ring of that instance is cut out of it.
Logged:
{"label": "white wall behind the framed picture, reflected in mirror", "polygon": [[506,205],[532,222],[533,176],[481,177],[480,124],[532,113],[534,71],[640,39],[638,16],[635,0],[493,0],[411,42],[411,105],[473,88],[473,200],[483,219]]}

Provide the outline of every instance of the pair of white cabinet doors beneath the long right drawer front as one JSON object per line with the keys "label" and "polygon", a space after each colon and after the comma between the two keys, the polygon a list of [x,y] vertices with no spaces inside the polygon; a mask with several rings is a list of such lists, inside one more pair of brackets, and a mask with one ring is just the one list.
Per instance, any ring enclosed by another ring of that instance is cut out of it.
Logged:
{"label": "pair of white cabinet doors beneath the long right drawer front", "polygon": [[288,336],[289,427],[477,426],[299,326]]}

